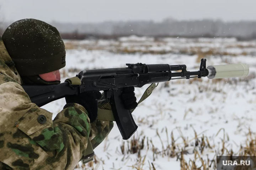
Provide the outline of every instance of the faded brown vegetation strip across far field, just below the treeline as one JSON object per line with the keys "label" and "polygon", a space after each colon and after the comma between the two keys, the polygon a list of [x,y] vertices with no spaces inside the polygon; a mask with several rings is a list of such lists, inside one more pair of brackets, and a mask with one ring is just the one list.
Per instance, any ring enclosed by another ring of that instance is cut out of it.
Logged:
{"label": "faded brown vegetation strip across far field, just below the treeline", "polygon": [[[106,43],[107,42],[107,43]],[[182,46],[179,41],[171,43],[177,43],[176,46],[170,45],[169,42],[164,40],[154,40],[152,42],[147,41],[120,41],[119,39],[103,40],[93,39],[80,42],[78,40],[65,41],[65,47],[67,50],[72,49],[86,49],[86,50],[106,50],[115,53],[125,54],[183,54],[183,55],[197,55],[199,59],[207,58],[208,56],[246,56],[249,53],[246,49],[254,48],[254,44],[229,44],[220,42],[220,47],[202,46],[202,42],[194,41],[191,46]],[[183,44],[184,42],[182,42]],[[208,43],[209,44],[209,43]],[[232,52],[227,49],[238,48],[240,52]]]}

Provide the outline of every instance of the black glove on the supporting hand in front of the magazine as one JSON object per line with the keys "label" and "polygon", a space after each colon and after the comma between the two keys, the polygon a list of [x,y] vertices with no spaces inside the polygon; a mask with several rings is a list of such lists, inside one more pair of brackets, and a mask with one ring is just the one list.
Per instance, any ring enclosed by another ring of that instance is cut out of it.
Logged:
{"label": "black glove on the supporting hand in front of the magazine", "polygon": [[134,93],[134,87],[124,87],[121,94],[121,99],[126,109],[135,109],[138,106]]}

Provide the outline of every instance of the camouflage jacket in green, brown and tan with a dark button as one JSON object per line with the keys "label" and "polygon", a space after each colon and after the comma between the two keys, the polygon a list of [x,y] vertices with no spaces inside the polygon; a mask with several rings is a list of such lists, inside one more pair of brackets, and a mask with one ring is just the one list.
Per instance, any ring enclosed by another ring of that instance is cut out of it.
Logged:
{"label": "camouflage jacket in green, brown and tan with a dark button", "polygon": [[[106,103],[99,107],[111,109]],[[90,124],[76,103],[52,120],[51,112],[30,101],[0,39],[0,169],[74,169],[88,141],[95,148],[112,127],[111,121]]]}

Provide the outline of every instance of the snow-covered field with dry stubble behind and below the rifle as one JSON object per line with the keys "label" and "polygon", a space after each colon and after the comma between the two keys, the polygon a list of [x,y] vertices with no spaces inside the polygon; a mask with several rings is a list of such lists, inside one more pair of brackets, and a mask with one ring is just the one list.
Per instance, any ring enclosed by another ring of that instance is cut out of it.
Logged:
{"label": "snow-covered field with dry stubble behind and below the rifle", "polygon": [[[207,66],[247,63],[250,67],[248,78],[160,83],[133,112],[138,125],[133,137],[122,140],[115,124],[95,149],[95,161],[80,164],[78,169],[178,170],[181,166],[193,169],[194,164],[214,169],[216,154],[230,154],[231,150],[239,154],[240,145],[248,143],[249,128],[252,136],[256,132],[256,41],[130,36],[66,40],[65,44],[62,82],[83,69],[126,67],[126,63],[138,62],[186,64],[187,70],[197,71],[200,59],[207,58]],[[146,87],[135,88],[138,100]],[[61,99],[43,108],[55,116],[64,104]]]}

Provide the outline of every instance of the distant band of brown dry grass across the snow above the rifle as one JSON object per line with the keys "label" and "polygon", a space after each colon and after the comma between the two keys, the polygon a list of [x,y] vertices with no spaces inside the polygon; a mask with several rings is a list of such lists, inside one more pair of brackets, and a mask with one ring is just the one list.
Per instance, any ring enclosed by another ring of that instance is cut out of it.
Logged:
{"label": "distant band of brown dry grass across the snow above the rifle", "polygon": [[[208,48],[208,50],[203,49],[201,46],[191,46],[191,47],[171,47],[166,44],[166,42],[160,42],[158,40],[152,42],[152,44],[148,44],[146,42],[128,42],[128,44],[124,44],[127,42],[121,42],[118,40],[113,40],[108,44],[101,44],[100,40],[93,40],[90,43],[80,43],[77,40],[74,41],[66,41],[65,47],[67,50],[71,49],[86,49],[86,50],[106,50],[110,52],[116,53],[126,53],[126,54],[134,54],[134,53],[142,53],[142,54],[167,54],[167,53],[177,53],[184,55],[197,55],[198,60],[200,62],[201,58],[207,58],[208,56],[246,56],[248,53],[242,50],[241,53],[232,53],[226,52],[223,49],[227,48],[239,48],[245,49],[249,47],[253,47],[253,45],[223,45],[223,47],[218,48]],[[151,47],[160,47],[160,49],[152,49]],[[161,48],[162,47],[162,48]]]}

